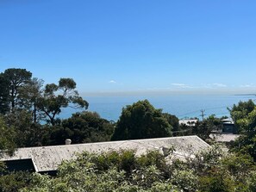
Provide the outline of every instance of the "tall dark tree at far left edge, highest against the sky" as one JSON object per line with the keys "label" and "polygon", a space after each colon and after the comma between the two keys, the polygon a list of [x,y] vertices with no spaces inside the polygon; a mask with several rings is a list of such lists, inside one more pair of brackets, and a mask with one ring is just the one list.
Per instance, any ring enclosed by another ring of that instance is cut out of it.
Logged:
{"label": "tall dark tree at far left edge, highest against the sky", "polygon": [[1,73],[3,83],[0,86],[3,87],[4,93],[8,90],[9,94],[8,96],[3,93],[0,95],[3,95],[4,102],[9,102],[11,111],[14,111],[17,106],[22,105],[21,98],[18,99],[20,94],[19,89],[25,84],[28,84],[31,77],[32,73],[25,69],[10,68]]}

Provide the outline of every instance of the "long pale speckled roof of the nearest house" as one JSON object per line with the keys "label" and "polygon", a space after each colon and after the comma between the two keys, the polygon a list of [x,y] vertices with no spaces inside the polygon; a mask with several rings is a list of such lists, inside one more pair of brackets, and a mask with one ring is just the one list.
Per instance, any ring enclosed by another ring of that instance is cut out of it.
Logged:
{"label": "long pale speckled roof of the nearest house", "polygon": [[171,137],[159,139],[134,139],[111,141],[102,143],[88,143],[63,146],[40,146],[19,148],[12,157],[5,156],[0,160],[18,160],[31,158],[36,171],[57,170],[58,165],[63,160],[76,158],[77,153],[81,152],[109,152],[120,150],[135,150],[136,155],[141,155],[147,151],[160,150],[163,147],[173,146],[175,152],[173,156],[185,158],[188,155],[195,154],[203,149],[209,148],[209,145],[203,139],[197,136]]}

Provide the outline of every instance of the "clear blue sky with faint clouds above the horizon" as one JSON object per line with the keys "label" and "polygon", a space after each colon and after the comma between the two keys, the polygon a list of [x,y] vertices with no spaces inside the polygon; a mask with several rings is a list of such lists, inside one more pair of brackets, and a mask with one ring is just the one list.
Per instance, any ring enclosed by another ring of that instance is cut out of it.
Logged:
{"label": "clear blue sky with faint clouds above the horizon", "polygon": [[0,0],[0,71],[83,95],[255,93],[256,1]]}

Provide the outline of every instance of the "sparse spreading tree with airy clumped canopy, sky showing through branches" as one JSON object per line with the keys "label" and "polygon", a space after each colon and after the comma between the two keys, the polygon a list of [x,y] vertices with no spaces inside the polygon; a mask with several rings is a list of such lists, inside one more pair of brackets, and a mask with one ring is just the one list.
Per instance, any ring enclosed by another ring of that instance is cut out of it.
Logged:
{"label": "sparse spreading tree with airy clumped canopy, sky showing through branches", "polygon": [[78,95],[76,83],[72,78],[60,78],[59,84],[47,84],[36,106],[55,125],[55,117],[61,108],[88,108],[89,103]]}

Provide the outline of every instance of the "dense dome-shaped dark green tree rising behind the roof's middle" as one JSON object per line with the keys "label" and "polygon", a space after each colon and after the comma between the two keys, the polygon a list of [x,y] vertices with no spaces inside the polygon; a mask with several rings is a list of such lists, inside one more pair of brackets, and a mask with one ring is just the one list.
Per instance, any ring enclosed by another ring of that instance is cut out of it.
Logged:
{"label": "dense dome-shaped dark green tree rising behind the roof's middle", "polygon": [[116,123],[112,139],[146,139],[171,135],[172,125],[166,120],[162,110],[153,108],[145,100],[122,108],[122,115]]}

